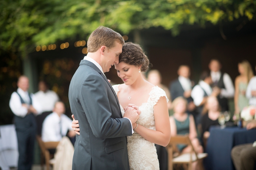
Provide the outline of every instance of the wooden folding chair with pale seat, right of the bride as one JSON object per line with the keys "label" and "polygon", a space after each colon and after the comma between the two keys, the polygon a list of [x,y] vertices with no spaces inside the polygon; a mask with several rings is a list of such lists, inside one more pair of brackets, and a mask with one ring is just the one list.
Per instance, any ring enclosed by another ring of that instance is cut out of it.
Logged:
{"label": "wooden folding chair with pale seat, right of the bride", "polygon": [[[177,156],[173,155],[173,151],[178,151],[176,145],[185,144],[190,145],[192,150],[190,153],[178,153]],[[171,137],[169,144],[166,146],[168,151],[168,170],[173,170],[174,164],[187,164],[188,170],[192,169],[192,162],[199,161],[199,168],[204,169],[202,160],[208,156],[207,153],[196,153],[188,135],[177,135]]]}

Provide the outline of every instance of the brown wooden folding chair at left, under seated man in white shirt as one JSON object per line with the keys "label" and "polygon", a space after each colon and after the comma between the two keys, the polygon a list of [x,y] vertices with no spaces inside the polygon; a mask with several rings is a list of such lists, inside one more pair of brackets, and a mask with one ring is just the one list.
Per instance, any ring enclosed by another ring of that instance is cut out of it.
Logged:
{"label": "brown wooden folding chair at left, under seated man in white shirt", "polygon": [[36,136],[36,140],[41,149],[41,167],[44,169],[44,161],[46,165],[46,170],[50,170],[50,165],[53,165],[54,162],[50,159],[53,158],[53,155],[50,155],[49,149],[56,149],[57,145],[60,142],[43,142],[40,136]]}

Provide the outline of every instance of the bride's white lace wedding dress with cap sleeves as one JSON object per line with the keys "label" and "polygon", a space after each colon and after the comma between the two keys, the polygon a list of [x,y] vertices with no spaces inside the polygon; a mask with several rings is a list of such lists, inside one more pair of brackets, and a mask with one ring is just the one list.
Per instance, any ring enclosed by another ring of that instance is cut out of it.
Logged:
{"label": "bride's white lace wedding dress with cap sleeves", "polygon": [[[118,85],[114,85],[113,89],[116,95],[119,91]],[[159,87],[153,87],[149,93],[147,103],[143,103],[139,110],[140,118],[138,123],[145,128],[156,130],[155,118],[154,118],[154,105],[157,103],[160,97],[164,96],[168,102],[168,98],[163,89]],[[120,105],[121,106],[121,105]],[[121,112],[124,116],[124,109],[121,106]],[[134,132],[132,136],[127,136],[127,149],[128,158],[131,170],[157,170],[159,169],[159,162],[156,154],[156,147],[154,143],[151,143],[141,137],[138,133]]]}

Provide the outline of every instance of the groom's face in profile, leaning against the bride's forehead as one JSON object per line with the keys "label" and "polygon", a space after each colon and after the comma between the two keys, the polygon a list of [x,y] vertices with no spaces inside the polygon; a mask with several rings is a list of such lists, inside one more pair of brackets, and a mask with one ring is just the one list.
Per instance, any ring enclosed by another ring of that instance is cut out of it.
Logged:
{"label": "groom's face in profile, leaning against the bride's forehead", "polygon": [[119,63],[119,55],[122,53],[122,47],[122,44],[116,42],[114,47],[106,49],[104,52],[104,61],[102,64],[102,70],[104,73],[108,72],[111,66]]}

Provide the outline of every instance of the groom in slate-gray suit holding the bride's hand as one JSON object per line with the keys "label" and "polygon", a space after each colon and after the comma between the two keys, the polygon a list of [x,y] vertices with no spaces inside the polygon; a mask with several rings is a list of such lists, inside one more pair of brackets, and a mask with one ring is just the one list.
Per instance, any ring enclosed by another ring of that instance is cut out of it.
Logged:
{"label": "groom in slate-gray suit holding the bride's hand", "polygon": [[139,118],[138,107],[128,107],[122,117],[116,93],[105,72],[119,63],[123,37],[98,27],[87,42],[88,54],[80,62],[68,92],[71,112],[79,122],[73,170],[129,169],[126,136]]}

